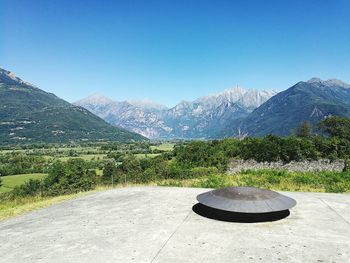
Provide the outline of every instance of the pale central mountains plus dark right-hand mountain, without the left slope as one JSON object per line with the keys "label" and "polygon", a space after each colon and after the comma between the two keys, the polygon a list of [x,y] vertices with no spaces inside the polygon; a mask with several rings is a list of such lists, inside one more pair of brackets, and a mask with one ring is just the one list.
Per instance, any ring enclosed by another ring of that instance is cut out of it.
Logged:
{"label": "pale central mountains plus dark right-hand mountain, without the left slope", "polygon": [[279,93],[235,87],[170,109],[96,95],[75,104],[151,139],[284,136],[295,133],[301,122],[315,125],[332,115],[350,117],[350,85],[312,78]]}

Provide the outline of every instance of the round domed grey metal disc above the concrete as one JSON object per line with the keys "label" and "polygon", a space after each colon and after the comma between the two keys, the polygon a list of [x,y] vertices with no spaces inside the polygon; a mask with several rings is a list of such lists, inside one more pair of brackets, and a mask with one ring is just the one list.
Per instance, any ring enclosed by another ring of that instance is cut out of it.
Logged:
{"label": "round domed grey metal disc above the concrete", "polygon": [[220,188],[199,194],[197,200],[208,207],[237,213],[270,213],[296,205],[290,197],[256,187]]}

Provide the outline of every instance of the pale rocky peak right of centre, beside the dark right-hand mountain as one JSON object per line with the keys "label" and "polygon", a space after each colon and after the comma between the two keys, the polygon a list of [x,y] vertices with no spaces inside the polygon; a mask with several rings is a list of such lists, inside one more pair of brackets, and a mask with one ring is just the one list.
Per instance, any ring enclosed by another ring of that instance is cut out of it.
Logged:
{"label": "pale rocky peak right of centre, beside the dark right-hand mountain", "polygon": [[192,102],[181,102],[166,113],[166,123],[172,128],[170,136],[212,138],[227,123],[247,116],[275,94],[275,91],[235,87]]}

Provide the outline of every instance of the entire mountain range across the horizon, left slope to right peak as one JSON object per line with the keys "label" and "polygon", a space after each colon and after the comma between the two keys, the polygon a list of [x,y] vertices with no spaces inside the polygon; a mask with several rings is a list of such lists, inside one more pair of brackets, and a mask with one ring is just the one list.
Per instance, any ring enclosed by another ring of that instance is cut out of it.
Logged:
{"label": "entire mountain range across the horizon, left slope to right peak", "polygon": [[237,86],[168,108],[101,95],[70,104],[0,69],[0,144],[284,136],[333,115],[350,118],[350,85],[336,79],[279,93]]}

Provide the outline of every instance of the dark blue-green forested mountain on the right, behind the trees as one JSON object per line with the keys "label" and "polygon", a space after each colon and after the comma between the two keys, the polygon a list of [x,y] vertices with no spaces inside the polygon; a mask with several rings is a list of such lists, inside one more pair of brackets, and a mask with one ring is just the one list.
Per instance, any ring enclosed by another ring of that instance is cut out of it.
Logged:
{"label": "dark blue-green forested mountain on the right, behind the trees", "polygon": [[278,93],[224,132],[288,135],[301,122],[316,124],[332,115],[350,117],[350,85],[335,79],[313,78]]}

